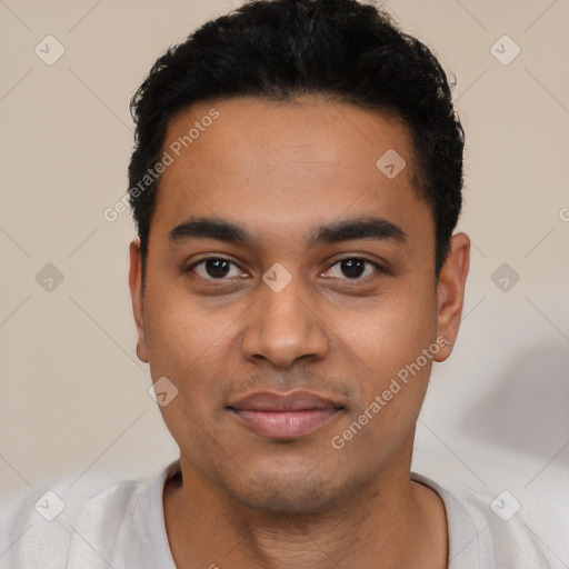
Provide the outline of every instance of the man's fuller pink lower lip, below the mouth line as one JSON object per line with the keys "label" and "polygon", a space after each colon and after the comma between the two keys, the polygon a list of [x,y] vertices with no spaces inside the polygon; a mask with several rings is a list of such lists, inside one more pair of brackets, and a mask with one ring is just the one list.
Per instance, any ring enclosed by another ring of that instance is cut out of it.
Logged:
{"label": "man's fuller pink lower lip, below the mouth line", "polygon": [[295,439],[330,422],[339,409],[308,409],[306,411],[251,411],[233,409],[233,413],[261,437]]}

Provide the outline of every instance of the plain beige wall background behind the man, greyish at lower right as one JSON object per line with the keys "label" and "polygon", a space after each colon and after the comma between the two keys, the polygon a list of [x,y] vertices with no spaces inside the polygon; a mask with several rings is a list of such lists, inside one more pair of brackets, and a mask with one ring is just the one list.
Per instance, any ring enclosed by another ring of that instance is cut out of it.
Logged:
{"label": "plain beige wall background behind the man, greyish at lower right", "polygon": [[[457,76],[460,229],[475,244],[413,468],[442,486],[507,489],[555,567],[569,567],[569,1],[388,6]],[[176,457],[134,352],[130,212],[112,223],[102,212],[127,189],[136,88],[168,44],[231,7],[0,0],[0,500],[68,472],[152,475]],[[47,34],[66,50],[52,66],[34,53]],[[503,34],[521,49],[507,66],[491,52]],[[63,274],[51,292],[36,280],[47,263]],[[502,263],[520,277],[507,291],[492,281]]]}

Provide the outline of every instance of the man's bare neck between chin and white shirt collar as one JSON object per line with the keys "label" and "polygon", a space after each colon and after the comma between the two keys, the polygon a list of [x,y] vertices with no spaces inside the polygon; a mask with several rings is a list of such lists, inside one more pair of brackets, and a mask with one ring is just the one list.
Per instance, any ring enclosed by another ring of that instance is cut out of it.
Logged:
{"label": "man's bare neck between chin and white shirt collar", "polygon": [[[405,465],[402,465],[405,466]],[[179,569],[442,569],[447,521],[440,497],[393,469],[326,511],[243,506],[181,457],[182,480],[164,488],[164,518]]]}

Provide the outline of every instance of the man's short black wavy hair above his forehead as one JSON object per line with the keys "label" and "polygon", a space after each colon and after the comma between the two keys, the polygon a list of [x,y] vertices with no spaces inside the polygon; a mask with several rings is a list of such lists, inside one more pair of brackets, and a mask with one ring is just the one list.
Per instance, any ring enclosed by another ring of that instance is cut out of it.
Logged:
{"label": "man's short black wavy hair above his forehead", "polygon": [[436,56],[383,9],[356,0],[253,0],[169,48],[130,101],[136,134],[129,192],[143,281],[160,182],[147,173],[162,157],[174,114],[214,99],[309,94],[381,111],[410,129],[413,187],[431,206],[439,276],[462,203],[465,133]]}

